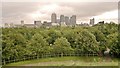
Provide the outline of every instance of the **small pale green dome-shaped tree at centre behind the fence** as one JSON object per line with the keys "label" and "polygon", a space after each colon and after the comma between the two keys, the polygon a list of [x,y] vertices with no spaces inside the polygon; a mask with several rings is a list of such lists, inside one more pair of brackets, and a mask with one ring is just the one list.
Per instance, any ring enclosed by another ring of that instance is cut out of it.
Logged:
{"label": "small pale green dome-shaped tree at centre behind the fence", "polygon": [[66,38],[58,38],[55,40],[53,45],[53,52],[57,54],[66,54],[72,52],[73,49]]}

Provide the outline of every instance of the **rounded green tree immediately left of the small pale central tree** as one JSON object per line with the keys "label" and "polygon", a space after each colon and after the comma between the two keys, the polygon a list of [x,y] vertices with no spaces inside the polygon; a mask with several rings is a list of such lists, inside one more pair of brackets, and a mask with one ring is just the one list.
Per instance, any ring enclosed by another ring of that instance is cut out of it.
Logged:
{"label": "rounded green tree immediately left of the small pale central tree", "polygon": [[31,50],[33,55],[41,55],[47,51],[48,43],[40,34],[34,34],[29,41],[28,49]]}

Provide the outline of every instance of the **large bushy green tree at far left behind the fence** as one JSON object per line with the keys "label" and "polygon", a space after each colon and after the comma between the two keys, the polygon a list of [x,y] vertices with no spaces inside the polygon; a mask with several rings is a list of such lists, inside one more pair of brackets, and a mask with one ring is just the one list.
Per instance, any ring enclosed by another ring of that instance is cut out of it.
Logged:
{"label": "large bushy green tree at far left behind the fence", "polygon": [[20,52],[26,47],[26,39],[21,34],[4,34],[2,36],[2,43],[2,53],[4,59],[14,59],[23,56]]}

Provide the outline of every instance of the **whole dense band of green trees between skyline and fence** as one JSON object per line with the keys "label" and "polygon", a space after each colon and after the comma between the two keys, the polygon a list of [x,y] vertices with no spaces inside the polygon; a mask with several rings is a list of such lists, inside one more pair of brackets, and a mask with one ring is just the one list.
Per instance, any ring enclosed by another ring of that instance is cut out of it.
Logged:
{"label": "whole dense band of green trees between skyline and fence", "polygon": [[2,59],[49,54],[103,53],[120,56],[118,25],[92,27],[2,28]]}

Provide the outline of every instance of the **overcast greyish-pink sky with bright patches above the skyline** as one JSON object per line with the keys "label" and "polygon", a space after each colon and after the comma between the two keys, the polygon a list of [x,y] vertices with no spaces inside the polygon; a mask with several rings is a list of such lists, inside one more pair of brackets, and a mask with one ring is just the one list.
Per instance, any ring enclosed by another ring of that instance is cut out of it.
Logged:
{"label": "overcast greyish-pink sky with bright patches above the skyline", "polygon": [[[50,21],[51,14],[56,13],[71,17],[77,16],[77,23],[89,23],[89,19],[116,22],[118,19],[118,0],[4,0],[2,8],[2,23],[20,24],[33,23],[34,20]],[[1,14],[0,14],[1,15]]]}

